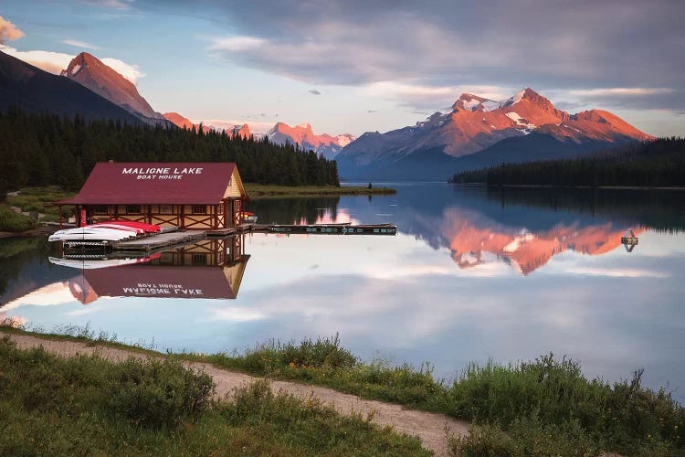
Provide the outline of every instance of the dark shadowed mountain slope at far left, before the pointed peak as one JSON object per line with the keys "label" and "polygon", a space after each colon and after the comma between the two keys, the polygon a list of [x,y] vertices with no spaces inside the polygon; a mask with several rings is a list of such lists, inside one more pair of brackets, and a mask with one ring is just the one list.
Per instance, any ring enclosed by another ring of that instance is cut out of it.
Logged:
{"label": "dark shadowed mountain slope at far left, before the pointed peak", "polygon": [[53,112],[84,119],[142,121],[121,106],[78,82],[38,69],[0,51],[0,110],[18,106],[26,112]]}

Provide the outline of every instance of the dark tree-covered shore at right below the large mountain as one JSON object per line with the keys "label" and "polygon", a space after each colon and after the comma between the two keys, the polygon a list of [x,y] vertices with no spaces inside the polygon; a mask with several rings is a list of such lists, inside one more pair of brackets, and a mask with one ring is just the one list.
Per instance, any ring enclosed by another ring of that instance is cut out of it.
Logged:
{"label": "dark tree-covered shore at right below the large mountain", "polygon": [[453,175],[488,186],[685,186],[685,138],[630,143],[576,158],[502,164]]}

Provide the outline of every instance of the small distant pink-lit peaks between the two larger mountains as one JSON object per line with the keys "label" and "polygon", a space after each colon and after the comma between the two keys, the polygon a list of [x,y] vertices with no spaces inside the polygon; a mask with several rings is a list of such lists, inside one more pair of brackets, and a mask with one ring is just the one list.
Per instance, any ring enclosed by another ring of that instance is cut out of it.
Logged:
{"label": "small distant pink-lit peaks between the two larger mountains", "polygon": [[277,144],[300,144],[305,149],[311,149],[317,154],[322,154],[327,159],[333,159],[338,155],[342,148],[352,143],[355,138],[349,133],[343,133],[338,136],[331,136],[328,133],[321,135],[315,134],[311,130],[309,123],[300,123],[294,127],[278,122],[269,132],[267,132],[269,141]]}

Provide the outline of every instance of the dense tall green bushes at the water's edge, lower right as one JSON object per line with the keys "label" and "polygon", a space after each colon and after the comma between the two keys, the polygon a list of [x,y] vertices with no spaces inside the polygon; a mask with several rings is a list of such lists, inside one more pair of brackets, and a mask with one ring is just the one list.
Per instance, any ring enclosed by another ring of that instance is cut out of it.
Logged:
{"label": "dense tall green bushes at the water's edge, lower right", "polygon": [[577,362],[550,354],[519,365],[469,365],[448,396],[456,417],[498,421],[504,430],[535,416],[545,424],[592,430],[612,451],[627,452],[649,441],[682,448],[685,409],[663,389],[643,388],[641,377],[639,370],[613,387],[588,381]]}

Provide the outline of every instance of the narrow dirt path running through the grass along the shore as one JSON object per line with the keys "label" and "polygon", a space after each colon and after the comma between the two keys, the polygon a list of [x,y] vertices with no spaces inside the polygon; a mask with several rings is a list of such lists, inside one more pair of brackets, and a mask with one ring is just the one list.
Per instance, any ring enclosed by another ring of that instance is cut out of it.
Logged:
{"label": "narrow dirt path running through the grass along the shore", "polygon": [[[0,335],[5,334],[0,332]],[[114,349],[103,345],[91,346],[72,341],[53,341],[29,335],[8,336],[16,342],[19,348],[28,349],[43,346],[47,351],[58,356],[98,354],[113,362],[121,362],[131,356],[137,358],[148,357],[140,353]],[[216,383],[216,394],[221,397],[230,394],[233,388],[257,379],[257,377],[228,371],[204,363],[186,362],[184,365],[186,367],[202,369],[206,374],[213,377]],[[393,403],[360,399],[355,395],[343,394],[331,388],[320,388],[287,381],[271,381],[271,388],[275,391],[283,390],[296,396],[309,396],[313,393],[314,396],[325,403],[331,403],[342,414],[361,412],[365,416],[368,413],[375,412],[374,423],[381,426],[392,425],[396,430],[418,436],[423,441],[424,447],[432,450],[439,456],[448,455],[445,435],[446,426],[450,433],[453,434],[465,435],[468,433],[468,423],[462,420],[455,420],[432,412],[402,409],[401,406]]]}

